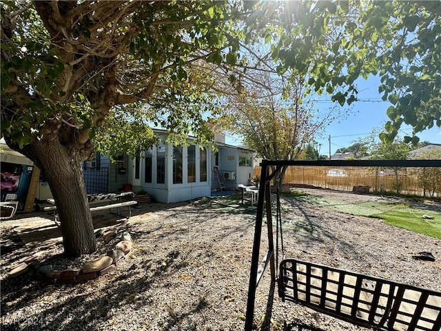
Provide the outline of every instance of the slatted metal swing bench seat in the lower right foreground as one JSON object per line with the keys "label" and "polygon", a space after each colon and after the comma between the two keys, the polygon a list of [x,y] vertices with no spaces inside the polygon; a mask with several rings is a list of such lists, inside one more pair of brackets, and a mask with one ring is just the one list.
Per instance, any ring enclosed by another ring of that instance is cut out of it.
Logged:
{"label": "slatted metal swing bench seat in the lower right foreground", "polygon": [[279,271],[283,301],[376,330],[441,330],[441,292],[296,259]]}

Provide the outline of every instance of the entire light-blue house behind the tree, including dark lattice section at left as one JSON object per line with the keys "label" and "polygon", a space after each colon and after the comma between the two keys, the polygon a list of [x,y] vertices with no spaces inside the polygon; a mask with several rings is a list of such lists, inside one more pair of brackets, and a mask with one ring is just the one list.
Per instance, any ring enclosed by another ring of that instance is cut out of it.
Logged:
{"label": "entire light-blue house behind the tree, including dark lattice section at left", "polygon": [[216,137],[216,152],[196,145],[172,146],[165,143],[167,132],[155,132],[161,143],[143,151],[139,158],[121,155],[112,163],[97,154],[94,160],[85,162],[88,193],[118,192],[131,186],[134,192],[147,191],[155,201],[173,203],[207,197],[220,190],[218,174],[227,190],[236,190],[241,183],[247,185],[252,178],[252,150],[227,145],[222,137]]}

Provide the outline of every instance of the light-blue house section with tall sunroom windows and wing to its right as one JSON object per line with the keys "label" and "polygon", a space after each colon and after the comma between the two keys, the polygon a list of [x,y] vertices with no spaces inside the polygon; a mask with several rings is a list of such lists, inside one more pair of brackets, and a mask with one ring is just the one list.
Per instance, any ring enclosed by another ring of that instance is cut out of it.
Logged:
{"label": "light-blue house section with tall sunroom windows and wing to its right", "polygon": [[216,152],[196,145],[172,146],[165,143],[165,131],[156,134],[161,137],[158,146],[128,161],[127,180],[134,192],[145,190],[155,201],[174,203],[236,190],[252,178],[252,150],[227,145],[221,137],[216,137]]}

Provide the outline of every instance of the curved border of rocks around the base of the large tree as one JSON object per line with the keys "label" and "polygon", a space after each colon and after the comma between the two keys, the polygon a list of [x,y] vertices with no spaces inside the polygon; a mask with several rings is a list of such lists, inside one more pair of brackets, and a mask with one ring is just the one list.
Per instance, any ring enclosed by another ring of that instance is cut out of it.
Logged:
{"label": "curved border of rocks around the base of the large tree", "polygon": [[18,277],[30,270],[37,270],[37,276],[47,284],[75,283],[90,281],[116,270],[132,251],[133,242],[130,232],[112,227],[109,230],[96,230],[95,236],[102,237],[106,244],[116,237],[120,237],[120,240],[112,250],[107,251],[107,255],[87,261],[81,268],[54,270],[52,264],[43,264],[44,252],[37,252],[20,259],[18,265],[10,270],[9,277]]}

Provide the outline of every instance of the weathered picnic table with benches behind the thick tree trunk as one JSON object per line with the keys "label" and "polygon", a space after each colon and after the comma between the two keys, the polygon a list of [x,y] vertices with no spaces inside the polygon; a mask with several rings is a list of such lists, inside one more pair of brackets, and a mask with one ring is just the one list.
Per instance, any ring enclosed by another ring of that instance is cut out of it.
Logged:
{"label": "weathered picnic table with benches behind the thick tree trunk", "polygon": [[[95,212],[98,210],[107,210],[107,209],[118,209],[118,212],[116,213],[119,216],[122,216],[121,214],[121,208],[127,207],[128,208],[128,215],[127,219],[129,219],[132,216],[132,210],[130,209],[131,205],[136,205],[138,202],[134,200],[130,201],[122,201],[123,198],[133,198],[134,192],[122,192],[122,193],[107,193],[107,194],[88,194],[88,201],[89,201],[89,209],[90,212]],[[59,225],[58,220],[58,213],[57,213],[57,205],[55,205],[54,199],[48,199],[47,200],[52,205],[43,208],[46,212],[54,211],[54,222]],[[104,204],[107,203],[107,204]],[[97,205],[101,204],[101,205]],[[97,205],[94,207],[94,205]]]}

